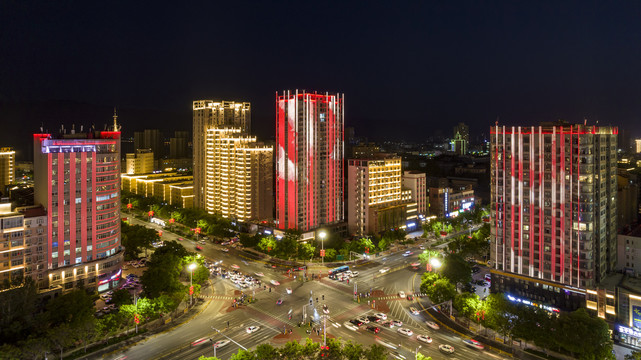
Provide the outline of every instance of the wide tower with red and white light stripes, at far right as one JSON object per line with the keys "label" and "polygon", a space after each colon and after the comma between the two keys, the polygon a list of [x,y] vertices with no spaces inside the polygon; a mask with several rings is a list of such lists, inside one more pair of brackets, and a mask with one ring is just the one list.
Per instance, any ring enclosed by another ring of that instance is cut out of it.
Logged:
{"label": "wide tower with red and white light stripes, at far right", "polygon": [[492,290],[585,305],[616,265],[617,128],[491,128]]}

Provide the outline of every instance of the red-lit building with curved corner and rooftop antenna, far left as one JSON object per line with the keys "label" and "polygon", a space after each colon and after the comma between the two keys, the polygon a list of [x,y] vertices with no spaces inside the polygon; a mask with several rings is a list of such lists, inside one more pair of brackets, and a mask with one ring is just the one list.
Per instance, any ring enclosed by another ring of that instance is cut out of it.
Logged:
{"label": "red-lit building with curved corner and rooftop antenna, far left", "polygon": [[34,199],[47,211],[50,286],[118,285],[120,131],[34,134]]}

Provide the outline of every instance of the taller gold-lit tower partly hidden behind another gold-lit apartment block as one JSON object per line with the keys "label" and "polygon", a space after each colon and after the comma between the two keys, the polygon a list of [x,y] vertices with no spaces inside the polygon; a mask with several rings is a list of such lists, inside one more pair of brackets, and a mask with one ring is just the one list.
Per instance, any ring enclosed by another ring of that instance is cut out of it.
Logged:
{"label": "taller gold-lit tower partly hidden behind another gold-lit apartment block", "polygon": [[205,209],[207,129],[234,127],[248,134],[251,105],[248,102],[196,100],[193,111],[194,206]]}

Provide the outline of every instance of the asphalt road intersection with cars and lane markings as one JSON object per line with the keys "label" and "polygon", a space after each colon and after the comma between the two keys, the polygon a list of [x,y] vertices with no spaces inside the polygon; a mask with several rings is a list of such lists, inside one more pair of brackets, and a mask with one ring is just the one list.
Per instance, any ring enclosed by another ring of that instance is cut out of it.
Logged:
{"label": "asphalt road intersection with cars and lane markings", "polygon": [[[144,221],[134,220],[134,223],[158,228]],[[177,237],[166,230],[163,231],[163,240],[173,240]],[[190,240],[183,240],[183,244],[189,250],[193,250],[196,245]],[[432,330],[428,328],[424,322],[430,317],[424,308],[431,306],[429,299],[415,298],[414,301],[399,299],[397,294],[400,290],[406,293],[419,292],[422,272],[411,269],[409,264],[418,261],[417,255],[420,250],[417,247],[413,251],[412,256],[405,257],[402,256],[402,252],[399,252],[353,267],[353,270],[359,271],[359,276],[347,284],[329,278],[302,282],[300,281],[300,273],[287,274],[284,268],[272,268],[265,263],[243,258],[235,250],[225,253],[221,246],[208,243],[203,246],[203,251],[200,252],[203,256],[211,260],[222,260],[223,266],[228,268],[236,265],[239,271],[245,274],[263,273],[264,276],[261,280],[263,284],[268,284],[267,289],[264,287],[240,289],[229,279],[212,277],[214,295],[200,300],[206,304],[201,313],[182,325],[153,335],[130,348],[109,354],[105,358],[117,359],[124,355],[127,356],[127,359],[197,359],[201,355],[213,356],[212,344],[218,340],[227,339],[227,337],[233,339],[235,343],[230,342],[216,350],[216,356],[221,359],[229,359],[241,347],[252,349],[266,342],[280,346],[289,340],[304,341],[308,336],[311,336],[314,341],[322,341],[323,305],[327,305],[330,312],[326,326],[328,337],[340,337],[343,340],[351,340],[364,346],[374,343],[383,344],[390,347],[390,351],[407,359],[414,357],[414,352],[419,345],[422,346],[420,352],[423,355],[432,356],[433,359],[503,358],[487,350],[479,351],[468,348],[462,343],[460,337],[444,329]],[[380,270],[383,268],[391,270],[381,274]],[[269,284],[271,280],[278,281],[280,285]],[[376,295],[380,295],[379,291],[382,291],[384,295],[377,298],[376,308],[373,308],[373,303],[368,305],[365,298],[360,303],[354,300],[355,285],[358,293],[375,291]],[[292,289],[292,294],[288,294],[287,288]],[[234,309],[231,307],[232,299],[238,297],[241,290],[248,296],[254,296],[257,301]],[[312,306],[309,305],[310,298]],[[279,299],[282,300],[281,305],[277,305]],[[421,313],[412,315],[408,310],[410,306],[418,308]],[[389,329],[383,326],[379,326],[381,332],[378,334],[365,330],[365,326],[356,331],[344,326],[344,323],[350,319],[360,315],[370,315],[381,310],[387,313],[388,319],[402,321],[403,327],[412,330],[414,335],[407,337],[399,334],[397,328]],[[308,335],[307,331],[311,330],[308,325],[299,327],[303,316],[306,316],[306,322],[310,320],[313,322],[313,328],[321,329],[320,336],[315,332]],[[259,326],[260,328],[249,334],[246,331],[249,326]],[[286,330],[287,335],[283,335],[283,330]],[[292,330],[292,334],[289,334],[290,330]],[[419,343],[416,339],[418,334],[430,336],[433,342],[431,344]],[[196,340],[203,338],[206,341],[192,345]],[[456,352],[453,355],[442,354],[438,350],[440,344],[452,345]]]}

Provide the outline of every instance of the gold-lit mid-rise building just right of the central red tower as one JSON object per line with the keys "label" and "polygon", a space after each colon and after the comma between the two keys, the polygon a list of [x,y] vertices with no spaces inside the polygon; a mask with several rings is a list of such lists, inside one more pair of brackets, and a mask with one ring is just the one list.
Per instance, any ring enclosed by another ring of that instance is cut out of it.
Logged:
{"label": "gold-lit mid-rise building just right of the central red tower", "polygon": [[411,190],[402,189],[401,158],[380,153],[350,159],[347,167],[347,228],[350,234],[374,235],[417,225]]}

